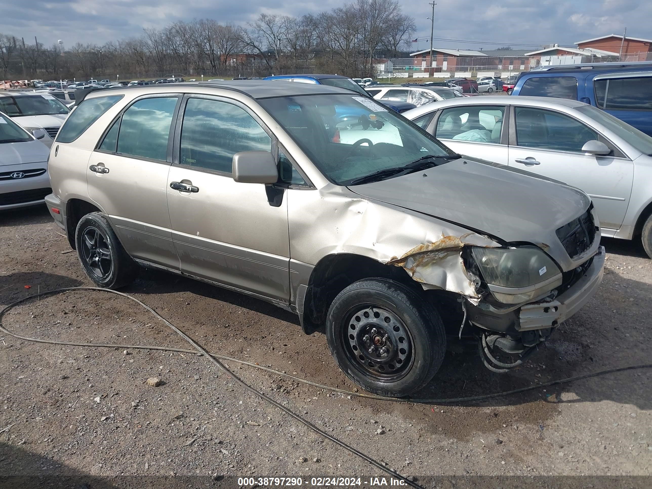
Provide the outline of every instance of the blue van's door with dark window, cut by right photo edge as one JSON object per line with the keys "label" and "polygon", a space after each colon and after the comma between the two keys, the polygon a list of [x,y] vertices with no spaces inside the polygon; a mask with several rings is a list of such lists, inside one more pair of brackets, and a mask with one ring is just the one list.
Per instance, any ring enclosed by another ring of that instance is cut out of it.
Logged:
{"label": "blue van's door with dark window, cut by right photo edge", "polygon": [[652,72],[596,76],[595,105],[652,136]]}

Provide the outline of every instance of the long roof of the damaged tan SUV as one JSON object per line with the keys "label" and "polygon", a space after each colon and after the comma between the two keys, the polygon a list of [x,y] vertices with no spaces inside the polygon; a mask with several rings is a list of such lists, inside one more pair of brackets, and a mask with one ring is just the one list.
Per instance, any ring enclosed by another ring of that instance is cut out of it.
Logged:
{"label": "long roof of the damaged tan SUV", "polygon": [[[311,75],[312,76],[312,75]],[[165,83],[162,85],[135,85],[134,87],[115,87],[103,89],[87,89],[83,95],[76,96],[76,104],[81,103],[86,96],[102,96],[108,93],[121,93],[128,90],[130,93],[170,93],[173,87],[179,88],[179,92],[187,93],[188,89],[200,87],[207,89],[206,93],[210,94],[210,89],[233,90],[251,98],[271,98],[275,96],[295,96],[295,95],[318,95],[318,94],[337,94],[344,93],[351,95],[351,91],[344,88],[331,87],[330,85],[321,85],[317,83],[288,83],[282,80],[226,80],[224,82],[185,82],[185,83]],[[216,94],[217,95],[217,94]],[[79,102],[79,103],[77,103]]]}

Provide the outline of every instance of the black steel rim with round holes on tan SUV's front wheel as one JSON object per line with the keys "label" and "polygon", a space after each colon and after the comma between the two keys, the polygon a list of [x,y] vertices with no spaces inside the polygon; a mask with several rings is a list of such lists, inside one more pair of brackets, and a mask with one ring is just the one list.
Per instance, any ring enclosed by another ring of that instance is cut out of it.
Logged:
{"label": "black steel rim with round holes on tan SUV's front wheel", "polygon": [[342,325],[342,335],[347,356],[363,374],[394,382],[408,373],[413,360],[412,338],[393,312],[369,304],[357,306]]}

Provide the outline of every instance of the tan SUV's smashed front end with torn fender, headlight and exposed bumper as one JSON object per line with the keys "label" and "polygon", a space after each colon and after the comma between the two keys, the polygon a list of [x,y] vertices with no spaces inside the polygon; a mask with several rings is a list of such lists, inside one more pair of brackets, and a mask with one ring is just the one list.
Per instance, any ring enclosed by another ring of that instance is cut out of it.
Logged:
{"label": "tan SUV's smashed front end with torn fender, headlight and exposed bumper", "polygon": [[602,280],[604,248],[563,272],[533,244],[501,246],[478,233],[442,235],[387,261],[424,289],[458,293],[464,319],[477,327],[479,353],[493,372],[520,366],[563,321],[579,310]]}

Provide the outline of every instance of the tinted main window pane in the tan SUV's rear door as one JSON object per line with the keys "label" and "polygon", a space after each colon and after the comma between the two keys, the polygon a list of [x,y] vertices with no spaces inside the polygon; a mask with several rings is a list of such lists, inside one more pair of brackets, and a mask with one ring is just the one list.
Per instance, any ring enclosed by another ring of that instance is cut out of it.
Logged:
{"label": "tinted main window pane in the tan SUV's rear door", "polygon": [[122,116],[117,152],[165,161],[176,105],[176,96],[143,98],[132,104]]}

